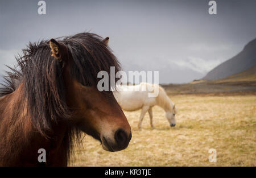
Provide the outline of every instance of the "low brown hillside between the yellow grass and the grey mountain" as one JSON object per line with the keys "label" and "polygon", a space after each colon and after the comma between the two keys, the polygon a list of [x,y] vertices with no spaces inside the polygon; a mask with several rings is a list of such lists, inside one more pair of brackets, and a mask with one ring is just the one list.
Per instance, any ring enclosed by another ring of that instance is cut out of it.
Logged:
{"label": "low brown hillside between the yellow grass and the grey mountain", "polygon": [[195,80],[187,84],[162,86],[168,94],[256,94],[256,65],[218,80]]}

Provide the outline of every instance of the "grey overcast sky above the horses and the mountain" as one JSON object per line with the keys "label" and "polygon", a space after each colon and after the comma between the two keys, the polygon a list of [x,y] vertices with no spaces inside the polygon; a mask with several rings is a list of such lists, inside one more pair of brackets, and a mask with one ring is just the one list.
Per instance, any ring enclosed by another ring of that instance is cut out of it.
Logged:
{"label": "grey overcast sky above the horses and the mountain", "polygon": [[0,73],[14,55],[42,39],[94,32],[125,71],[159,71],[160,83],[182,83],[207,72],[256,37],[256,1],[38,1],[0,0]]}

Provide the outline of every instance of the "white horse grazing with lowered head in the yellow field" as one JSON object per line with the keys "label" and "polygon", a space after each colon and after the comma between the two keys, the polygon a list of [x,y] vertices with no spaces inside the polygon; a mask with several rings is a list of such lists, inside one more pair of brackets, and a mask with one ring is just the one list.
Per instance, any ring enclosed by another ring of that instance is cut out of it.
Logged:
{"label": "white horse grazing with lowered head in the yellow field", "polygon": [[[158,87],[158,96],[148,97],[148,93],[154,92],[154,90],[151,90],[154,86]],[[114,91],[113,93],[123,110],[135,111],[141,109],[141,117],[139,117],[138,124],[139,129],[141,129],[142,120],[147,111],[150,115],[150,125],[154,128],[152,107],[155,105],[162,107],[166,111],[166,118],[171,127],[176,125],[175,114],[177,110],[175,104],[170,100],[161,86],[141,83],[139,85],[118,85],[116,87],[118,91]]]}

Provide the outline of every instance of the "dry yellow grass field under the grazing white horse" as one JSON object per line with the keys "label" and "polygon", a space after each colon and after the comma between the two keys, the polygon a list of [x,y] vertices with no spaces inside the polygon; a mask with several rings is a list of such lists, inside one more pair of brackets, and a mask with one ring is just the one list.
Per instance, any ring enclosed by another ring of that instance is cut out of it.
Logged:
{"label": "dry yellow grass field under the grazing white horse", "polygon": [[[179,113],[170,127],[155,106],[151,129],[146,114],[138,130],[139,111],[125,112],[133,138],[126,150],[107,152],[86,135],[76,148],[74,166],[256,166],[256,96],[170,97]],[[210,163],[208,150],[217,151]]]}

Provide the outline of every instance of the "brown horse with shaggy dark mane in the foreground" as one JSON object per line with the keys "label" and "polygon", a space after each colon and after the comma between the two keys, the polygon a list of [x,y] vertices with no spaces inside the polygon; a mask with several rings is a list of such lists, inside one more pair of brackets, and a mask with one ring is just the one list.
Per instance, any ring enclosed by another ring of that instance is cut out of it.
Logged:
{"label": "brown horse with shaggy dark mane in the foreground", "polygon": [[[29,44],[0,91],[0,165],[65,166],[81,131],[107,151],[125,149],[131,128],[97,73],[120,67],[109,38],[81,33]],[[39,149],[46,162],[39,163]]]}

